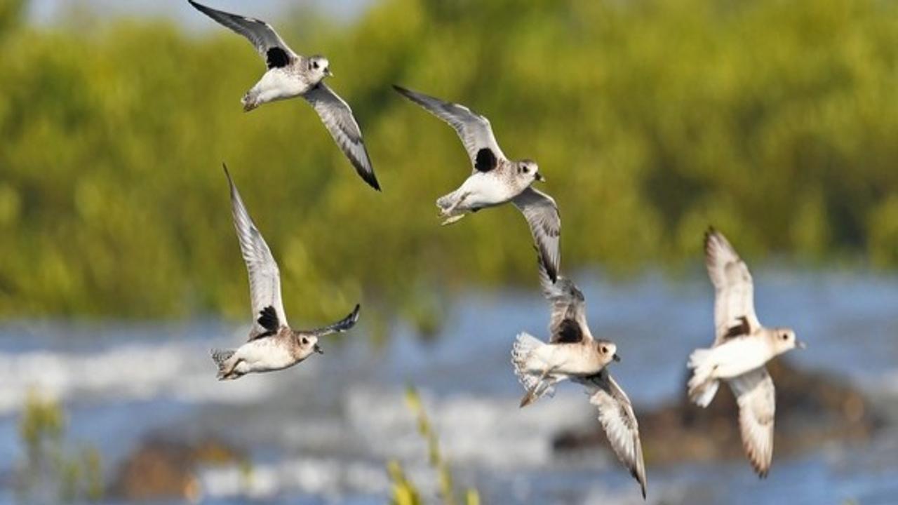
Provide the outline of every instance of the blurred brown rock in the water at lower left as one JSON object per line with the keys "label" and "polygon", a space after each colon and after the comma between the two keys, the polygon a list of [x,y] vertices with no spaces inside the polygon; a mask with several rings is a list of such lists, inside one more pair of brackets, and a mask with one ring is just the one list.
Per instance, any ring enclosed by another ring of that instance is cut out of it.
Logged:
{"label": "blurred brown rock in the water at lower left", "polygon": [[112,496],[127,500],[180,499],[197,502],[202,496],[199,465],[243,461],[242,453],[215,439],[198,443],[147,439],[120,465]]}

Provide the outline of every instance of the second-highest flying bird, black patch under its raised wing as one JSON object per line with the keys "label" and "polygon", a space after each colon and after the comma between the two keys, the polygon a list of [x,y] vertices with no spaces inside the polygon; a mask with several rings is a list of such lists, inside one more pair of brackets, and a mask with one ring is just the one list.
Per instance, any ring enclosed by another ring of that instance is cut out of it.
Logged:
{"label": "second-highest flying bird, black patch under its raised wing", "polygon": [[549,195],[531,187],[545,179],[533,160],[512,161],[499,148],[489,120],[458,103],[444,102],[399,85],[393,88],[455,129],[471,157],[473,171],[459,189],[436,200],[444,225],[454,223],[469,212],[495,207],[508,201],[524,214],[533,241],[552,282],[561,261],[561,217]]}

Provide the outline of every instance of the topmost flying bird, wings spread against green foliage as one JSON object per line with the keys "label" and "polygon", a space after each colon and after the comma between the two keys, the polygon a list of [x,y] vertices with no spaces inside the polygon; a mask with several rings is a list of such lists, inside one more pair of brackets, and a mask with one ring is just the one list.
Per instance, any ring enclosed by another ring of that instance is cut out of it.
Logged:
{"label": "topmost flying bird, wings spread against green foliage", "polygon": [[188,1],[199,12],[250,40],[265,59],[268,70],[243,95],[243,111],[252,111],[263,103],[302,96],[318,112],[330,137],[343,150],[358,175],[375,190],[381,190],[352,109],[324,84],[324,79],[333,75],[328,58],[296,54],[267,22]]}

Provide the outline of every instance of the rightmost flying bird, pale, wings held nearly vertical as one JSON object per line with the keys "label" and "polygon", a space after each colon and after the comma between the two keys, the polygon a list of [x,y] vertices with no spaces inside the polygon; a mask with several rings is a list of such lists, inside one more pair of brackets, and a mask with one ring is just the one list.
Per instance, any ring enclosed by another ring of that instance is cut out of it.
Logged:
{"label": "rightmost flying bird, pale, wings held nearly vertical", "polygon": [[714,285],[714,343],[694,350],[689,397],[707,407],[725,380],[739,405],[739,431],[745,455],[764,478],[773,458],[776,392],[764,365],[795,348],[804,349],[791,328],[766,328],[754,313],[752,274],[726,237],[709,227],[705,233],[705,265]]}

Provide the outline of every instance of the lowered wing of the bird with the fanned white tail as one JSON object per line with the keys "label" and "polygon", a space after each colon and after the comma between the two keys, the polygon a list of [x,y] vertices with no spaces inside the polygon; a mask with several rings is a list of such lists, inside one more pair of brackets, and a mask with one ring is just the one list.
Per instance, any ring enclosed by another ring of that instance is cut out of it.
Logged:
{"label": "lowered wing of the bird with the fanned white tail", "polygon": [[639,441],[639,425],[633,406],[627,394],[614,381],[608,370],[586,379],[586,393],[589,403],[599,410],[599,422],[611,442],[614,453],[627,467],[629,473],[639,483],[642,498],[646,498],[646,463],[642,457],[642,443]]}

